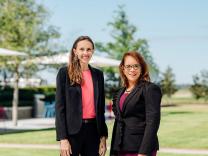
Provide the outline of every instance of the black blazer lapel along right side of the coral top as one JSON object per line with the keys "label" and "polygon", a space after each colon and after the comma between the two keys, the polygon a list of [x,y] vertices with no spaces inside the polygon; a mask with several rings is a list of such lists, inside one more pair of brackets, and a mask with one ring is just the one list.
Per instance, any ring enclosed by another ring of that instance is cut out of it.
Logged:
{"label": "black blazer lapel along right side of the coral top", "polygon": [[98,102],[98,76],[94,68],[89,65],[89,69],[92,74],[92,82],[94,88],[94,105],[95,105],[95,112],[97,112],[97,102]]}

